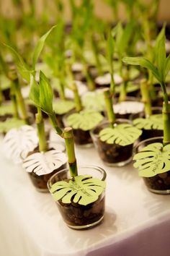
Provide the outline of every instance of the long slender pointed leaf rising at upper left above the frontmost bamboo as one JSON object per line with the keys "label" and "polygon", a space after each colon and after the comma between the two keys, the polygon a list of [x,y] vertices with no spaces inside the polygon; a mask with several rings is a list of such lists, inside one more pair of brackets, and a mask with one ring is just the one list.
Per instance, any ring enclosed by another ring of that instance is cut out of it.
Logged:
{"label": "long slender pointed leaf rising at upper left above the frontmost bamboo", "polygon": [[45,35],[42,35],[42,37],[38,40],[37,45],[35,46],[35,50],[33,52],[33,57],[32,57],[32,67],[33,67],[34,70],[35,70],[35,64],[37,63],[37,60],[40,56],[42,48],[44,47],[45,40],[46,40],[46,38],[48,38],[48,35],[51,33],[51,31],[55,27],[56,27],[56,25],[51,27],[50,30],[48,30],[48,32],[45,33]]}

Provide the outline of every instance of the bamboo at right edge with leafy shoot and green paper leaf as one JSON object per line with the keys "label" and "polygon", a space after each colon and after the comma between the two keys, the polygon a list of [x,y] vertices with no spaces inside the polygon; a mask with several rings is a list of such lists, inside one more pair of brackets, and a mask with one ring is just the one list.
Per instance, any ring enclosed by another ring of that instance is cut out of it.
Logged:
{"label": "bamboo at right edge with leafy shoot and green paper leaf", "polygon": [[[165,179],[161,180],[164,184],[161,190],[169,189],[169,182],[166,182],[166,178],[169,176],[170,164],[169,164],[169,149],[170,149],[170,103],[166,91],[166,76],[170,69],[170,55],[166,57],[165,48],[165,27],[162,28],[161,33],[156,40],[156,61],[152,63],[146,58],[125,57],[123,61],[128,64],[139,65],[146,69],[150,69],[153,76],[156,77],[164,94],[163,104],[163,123],[164,123],[164,137],[163,141],[157,143],[151,143],[143,148],[139,153],[135,154],[134,166],[139,170],[139,176],[153,177],[154,182],[161,179],[161,174],[166,174]],[[153,189],[157,190],[157,189]],[[153,191],[154,192],[154,191]]]}

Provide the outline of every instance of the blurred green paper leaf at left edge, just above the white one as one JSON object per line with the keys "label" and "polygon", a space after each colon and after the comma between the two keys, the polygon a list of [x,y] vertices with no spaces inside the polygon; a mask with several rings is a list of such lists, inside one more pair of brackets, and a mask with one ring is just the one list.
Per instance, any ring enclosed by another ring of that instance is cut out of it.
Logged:
{"label": "blurred green paper leaf at left edge, just above the white one", "polygon": [[6,119],[0,122],[0,132],[9,132],[10,129],[21,127],[24,124],[24,120],[21,119]]}

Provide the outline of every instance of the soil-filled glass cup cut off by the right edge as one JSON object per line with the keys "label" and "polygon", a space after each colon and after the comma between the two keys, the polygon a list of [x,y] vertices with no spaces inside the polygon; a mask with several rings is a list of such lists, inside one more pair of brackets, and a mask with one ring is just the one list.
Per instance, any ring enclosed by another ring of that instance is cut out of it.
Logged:
{"label": "soil-filled glass cup cut off by the right edge", "polygon": [[[163,142],[163,137],[153,137],[148,140],[143,140],[134,148],[134,153],[140,152],[147,145],[154,142]],[[148,190],[156,194],[170,194],[170,170],[164,174],[156,174],[152,177],[143,177]]]}

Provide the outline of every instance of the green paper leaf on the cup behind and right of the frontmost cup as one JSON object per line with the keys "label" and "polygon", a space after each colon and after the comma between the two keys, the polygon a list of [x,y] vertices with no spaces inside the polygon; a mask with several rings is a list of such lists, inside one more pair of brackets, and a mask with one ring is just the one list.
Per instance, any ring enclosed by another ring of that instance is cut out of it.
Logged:
{"label": "green paper leaf on the cup behind and right of the frontmost cup", "polygon": [[126,146],[133,144],[140,137],[142,131],[131,124],[117,124],[114,128],[104,128],[99,132],[99,138],[108,144]]}

